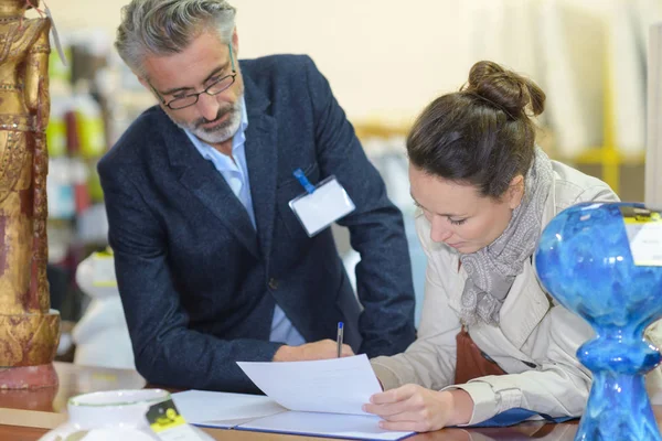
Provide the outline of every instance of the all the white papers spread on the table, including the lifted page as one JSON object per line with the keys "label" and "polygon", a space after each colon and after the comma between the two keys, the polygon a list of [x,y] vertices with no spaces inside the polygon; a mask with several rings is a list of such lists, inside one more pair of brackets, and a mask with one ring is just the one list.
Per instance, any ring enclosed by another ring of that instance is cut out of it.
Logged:
{"label": "all the white papers spread on the table, including the lifted page", "polygon": [[361,410],[382,391],[365,355],[292,363],[238,363],[267,396],[190,390],[173,394],[196,426],[355,440],[401,440]]}

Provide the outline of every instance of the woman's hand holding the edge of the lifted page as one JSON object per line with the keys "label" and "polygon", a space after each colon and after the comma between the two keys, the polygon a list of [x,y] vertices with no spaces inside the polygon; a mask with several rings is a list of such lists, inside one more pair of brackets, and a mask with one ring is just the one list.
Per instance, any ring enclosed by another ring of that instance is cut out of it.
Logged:
{"label": "woman's hand holding the edge of the lifted page", "polygon": [[405,385],[373,395],[363,410],[382,417],[384,421],[380,421],[380,427],[383,429],[430,432],[469,422],[473,400],[462,389],[436,391]]}

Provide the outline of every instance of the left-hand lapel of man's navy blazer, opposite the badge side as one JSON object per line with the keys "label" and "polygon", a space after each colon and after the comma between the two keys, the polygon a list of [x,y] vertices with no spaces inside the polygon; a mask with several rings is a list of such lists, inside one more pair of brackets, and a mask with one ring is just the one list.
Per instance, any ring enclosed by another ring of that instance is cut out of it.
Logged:
{"label": "left-hand lapel of man's navy blazer, opposite the badge side", "polygon": [[186,135],[172,123],[164,136],[173,169],[179,170],[179,182],[204,204],[256,257],[259,258],[257,234],[244,205],[232,192],[214,165],[195,150]]}

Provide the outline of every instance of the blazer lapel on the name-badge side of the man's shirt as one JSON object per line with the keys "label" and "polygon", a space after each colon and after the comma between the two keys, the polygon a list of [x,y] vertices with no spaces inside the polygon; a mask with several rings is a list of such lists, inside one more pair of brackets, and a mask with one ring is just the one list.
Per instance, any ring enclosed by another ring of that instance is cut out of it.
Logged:
{"label": "blazer lapel on the name-badge side of the man's shirt", "polygon": [[253,196],[253,209],[259,235],[259,246],[269,261],[274,216],[276,209],[276,178],[278,174],[278,127],[266,112],[269,99],[250,77],[244,75],[248,127],[246,129],[246,163]]}

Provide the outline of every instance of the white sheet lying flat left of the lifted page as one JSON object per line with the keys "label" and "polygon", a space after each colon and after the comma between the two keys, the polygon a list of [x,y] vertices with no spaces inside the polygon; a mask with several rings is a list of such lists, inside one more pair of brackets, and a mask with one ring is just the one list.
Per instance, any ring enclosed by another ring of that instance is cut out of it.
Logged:
{"label": "white sheet lying flat left of the lifted page", "polygon": [[233,428],[287,410],[261,395],[186,390],[172,394],[172,400],[188,422],[217,428]]}

